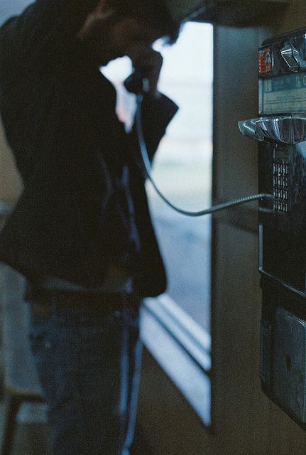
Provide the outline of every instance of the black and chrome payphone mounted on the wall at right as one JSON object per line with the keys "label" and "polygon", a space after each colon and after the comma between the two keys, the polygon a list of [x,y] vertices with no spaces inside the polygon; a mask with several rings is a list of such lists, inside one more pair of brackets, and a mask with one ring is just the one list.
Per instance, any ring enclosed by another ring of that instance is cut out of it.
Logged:
{"label": "black and chrome payphone mounted on the wall at right", "polygon": [[258,50],[261,386],[306,429],[306,28]]}

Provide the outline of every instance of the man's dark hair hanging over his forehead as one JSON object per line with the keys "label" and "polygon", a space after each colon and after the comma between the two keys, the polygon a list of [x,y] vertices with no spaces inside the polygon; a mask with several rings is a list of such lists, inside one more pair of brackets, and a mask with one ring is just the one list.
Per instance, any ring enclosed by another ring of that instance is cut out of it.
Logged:
{"label": "man's dark hair hanging over his forehead", "polygon": [[109,0],[109,5],[122,16],[138,18],[154,26],[166,44],[177,41],[180,23],[170,16],[163,0]]}

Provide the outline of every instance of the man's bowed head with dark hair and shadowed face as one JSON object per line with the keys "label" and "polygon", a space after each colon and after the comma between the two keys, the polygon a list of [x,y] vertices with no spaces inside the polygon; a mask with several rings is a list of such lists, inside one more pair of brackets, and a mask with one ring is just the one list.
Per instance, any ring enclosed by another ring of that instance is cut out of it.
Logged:
{"label": "man's bowed head with dark hair and shadowed face", "polygon": [[99,0],[80,38],[104,65],[128,55],[133,45],[151,46],[158,38],[175,43],[179,32],[180,24],[170,17],[163,0]]}

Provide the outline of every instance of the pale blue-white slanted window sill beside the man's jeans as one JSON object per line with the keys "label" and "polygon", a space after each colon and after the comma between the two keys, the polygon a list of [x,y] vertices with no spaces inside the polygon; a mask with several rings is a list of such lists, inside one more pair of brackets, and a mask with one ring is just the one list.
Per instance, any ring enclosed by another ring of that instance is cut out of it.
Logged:
{"label": "pale blue-white slanted window sill beside the man's jeans", "polygon": [[210,335],[169,296],[146,299],[141,337],[149,353],[211,427]]}

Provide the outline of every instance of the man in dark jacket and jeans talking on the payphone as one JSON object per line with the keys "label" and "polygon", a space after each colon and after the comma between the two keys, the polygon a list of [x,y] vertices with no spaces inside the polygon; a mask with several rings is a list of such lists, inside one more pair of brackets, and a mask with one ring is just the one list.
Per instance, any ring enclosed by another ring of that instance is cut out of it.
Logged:
{"label": "man in dark jacket and jeans talking on the payphone", "polygon": [[0,108],[24,191],[0,259],[24,274],[56,455],[127,455],[144,296],[165,290],[135,132],[100,65],[128,55],[150,90],[151,158],[177,107],[157,91],[179,26],[163,1],[37,0],[0,33]]}

